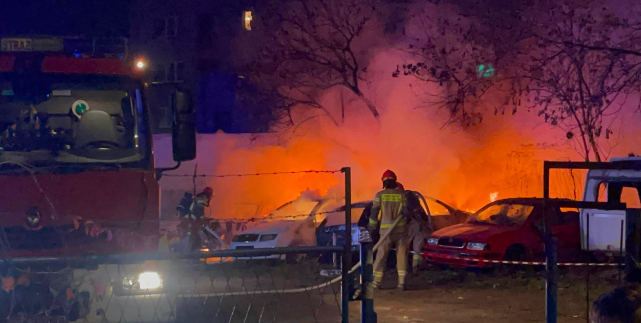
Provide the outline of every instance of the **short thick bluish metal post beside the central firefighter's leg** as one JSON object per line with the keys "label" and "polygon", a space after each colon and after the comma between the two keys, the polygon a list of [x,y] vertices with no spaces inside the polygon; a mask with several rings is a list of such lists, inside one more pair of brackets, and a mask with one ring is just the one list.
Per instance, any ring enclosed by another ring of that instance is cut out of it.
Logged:
{"label": "short thick bluish metal post beside the central firefighter's leg", "polygon": [[376,323],[374,312],[374,255],[372,254],[372,238],[367,228],[360,228],[360,260],[361,260],[361,323]]}

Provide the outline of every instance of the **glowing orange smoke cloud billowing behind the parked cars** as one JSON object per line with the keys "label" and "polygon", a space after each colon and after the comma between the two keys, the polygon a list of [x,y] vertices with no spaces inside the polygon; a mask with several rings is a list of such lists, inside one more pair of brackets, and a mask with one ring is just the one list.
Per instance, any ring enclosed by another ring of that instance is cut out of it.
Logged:
{"label": "glowing orange smoke cloud billowing behind the parked cars", "polygon": [[[426,89],[417,89],[409,77],[392,78],[392,71],[406,59],[397,47],[368,50],[365,94],[379,109],[379,122],[349,91],[335,87],[322,95],[321,103],[342,121],[338,126],[319,110],[299,108],[293,112],[295,128],[258,135],[260,140],[216,134],[199,141],[198,161],[179,172],[193,172],[195,163],[200,174],[351,167],[352,201],[357,202],[372,199],[381,189],[381,174],[391,169],[406,189],[462,210],[478,210],[488,203],[488,196],[494,200],[542,195],[543,160],[581,160],[565,133],[550,128],[535,113],[499,114],[465,129],[445,126],[444,112],[420,108],[424,105],[420,93]],[[612,156],[626,156],[638,148],[633,138],[639,116],[633,110],[630,104],[622,112],[629,118],[618,121],[622,131],[612,140]],[[581,181],[580,172],[553,174],[552,193],[574,198]],[[177,183],[169,179],[161,185],[190,187]],[[345,190],[340,172],[206,178],[196,185],[213,187],[216,197],[210,216],[219,218],[266,215],[303,192],[342,197]]]}

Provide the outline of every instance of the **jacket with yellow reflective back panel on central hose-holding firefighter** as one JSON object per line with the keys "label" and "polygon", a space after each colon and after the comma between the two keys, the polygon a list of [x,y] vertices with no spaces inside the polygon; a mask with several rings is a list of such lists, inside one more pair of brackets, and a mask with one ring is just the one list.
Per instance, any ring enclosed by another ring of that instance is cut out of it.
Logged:
{"label": "jacket with yellow reflective back panel on central hose-holding firefighter", "polygon": [[[387,231],[394,221],[403,217],[406,213],[405,200],[403,192],[397,188],[385,188],[376,193],[372,213],[369,217],[369,228],[376,229],[380,213],[381,235]],[[403,233],[405,231],[405,219],[401,219],[394,228],[394,233]]]}

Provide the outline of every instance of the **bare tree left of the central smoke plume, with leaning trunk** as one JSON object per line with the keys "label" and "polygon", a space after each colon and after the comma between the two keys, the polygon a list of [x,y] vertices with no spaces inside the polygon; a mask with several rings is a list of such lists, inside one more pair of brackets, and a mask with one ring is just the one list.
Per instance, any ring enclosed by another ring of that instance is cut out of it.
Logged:
{"label": "bare tree left of the central smoke plume, with leaning trunk", "polygon": [[366,58],[358,47],[373,24],[372,1],[278,1],[267,4],[264,12],[269,40],[253,69],[258,78],[269,79],[288,103],[318,108],[335,123],[319,95],[333,87],[347,88],[378,119],[376,106],[363,93]]}

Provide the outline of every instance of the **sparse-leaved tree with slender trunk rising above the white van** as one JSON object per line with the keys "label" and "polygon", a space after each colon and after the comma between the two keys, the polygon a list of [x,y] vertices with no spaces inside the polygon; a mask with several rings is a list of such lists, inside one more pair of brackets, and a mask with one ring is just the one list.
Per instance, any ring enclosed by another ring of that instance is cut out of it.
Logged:
{"label": "sparse-leaved tree with slender trunk rising above the white van", "polygon": [[[528,103],[567,138],[578,140],[586,161],[601,161],[601,140],[614,129],[608,124],[624,96],[638,90],[640,29],[594,2],[567,1],[537,13],[535,37],[522,56]],[[626,48],[626,49],[624,49]]]}

